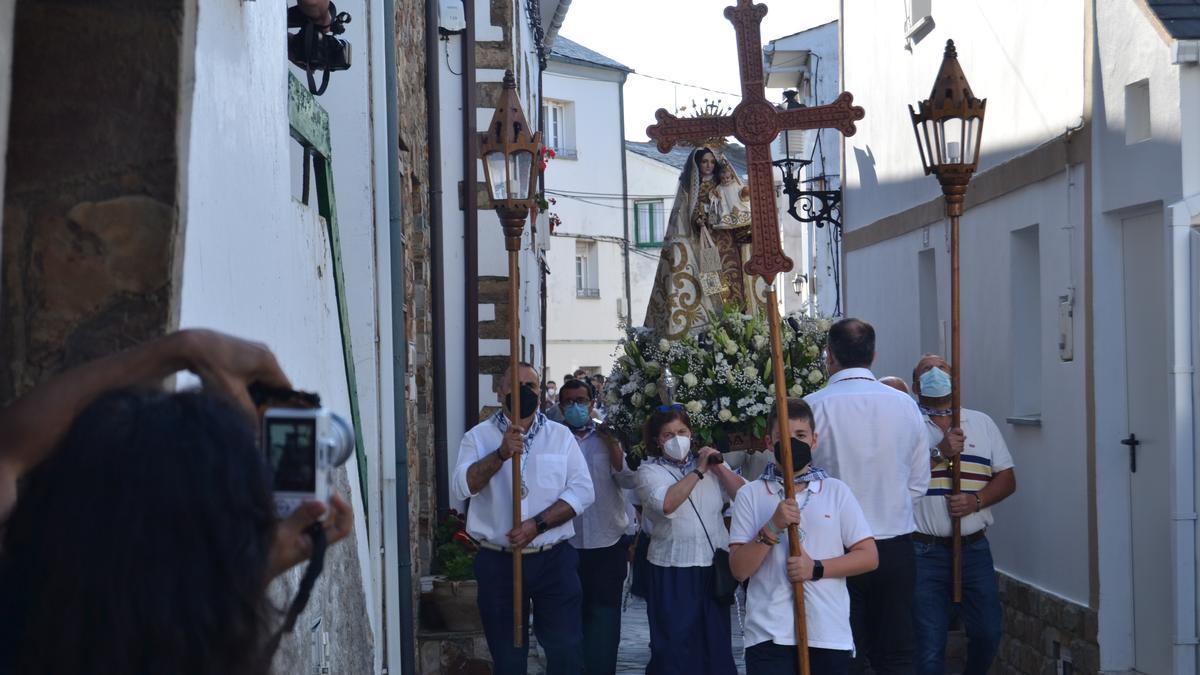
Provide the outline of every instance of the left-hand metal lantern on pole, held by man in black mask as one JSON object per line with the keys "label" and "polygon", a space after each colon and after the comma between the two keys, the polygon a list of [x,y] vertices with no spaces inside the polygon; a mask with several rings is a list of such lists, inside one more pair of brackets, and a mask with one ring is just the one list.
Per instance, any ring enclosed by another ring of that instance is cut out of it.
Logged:
{"label": "left-hand metal lantern on pole, held by man in black mask", "polygon": [[[520,270],[517,252],[526,219],[536,199],[538,174],[534,167],[541,154],[541,133],[530,132],[529,123],[521,109],[517,83],[512,71],[504,72],[504,86],[496,103],[496,114],[487,131],[479,135],[479,154],[484,160],[484,181],[487,193],[504,226],[504,247],[509,252],[509,420],[521,422],[521,325],[520,325]],[[521,525],[521,461],[512,462],[512,527]],[[512,644],[524,641],[524,616],[521,598],[521,550],[512,551]]]}

